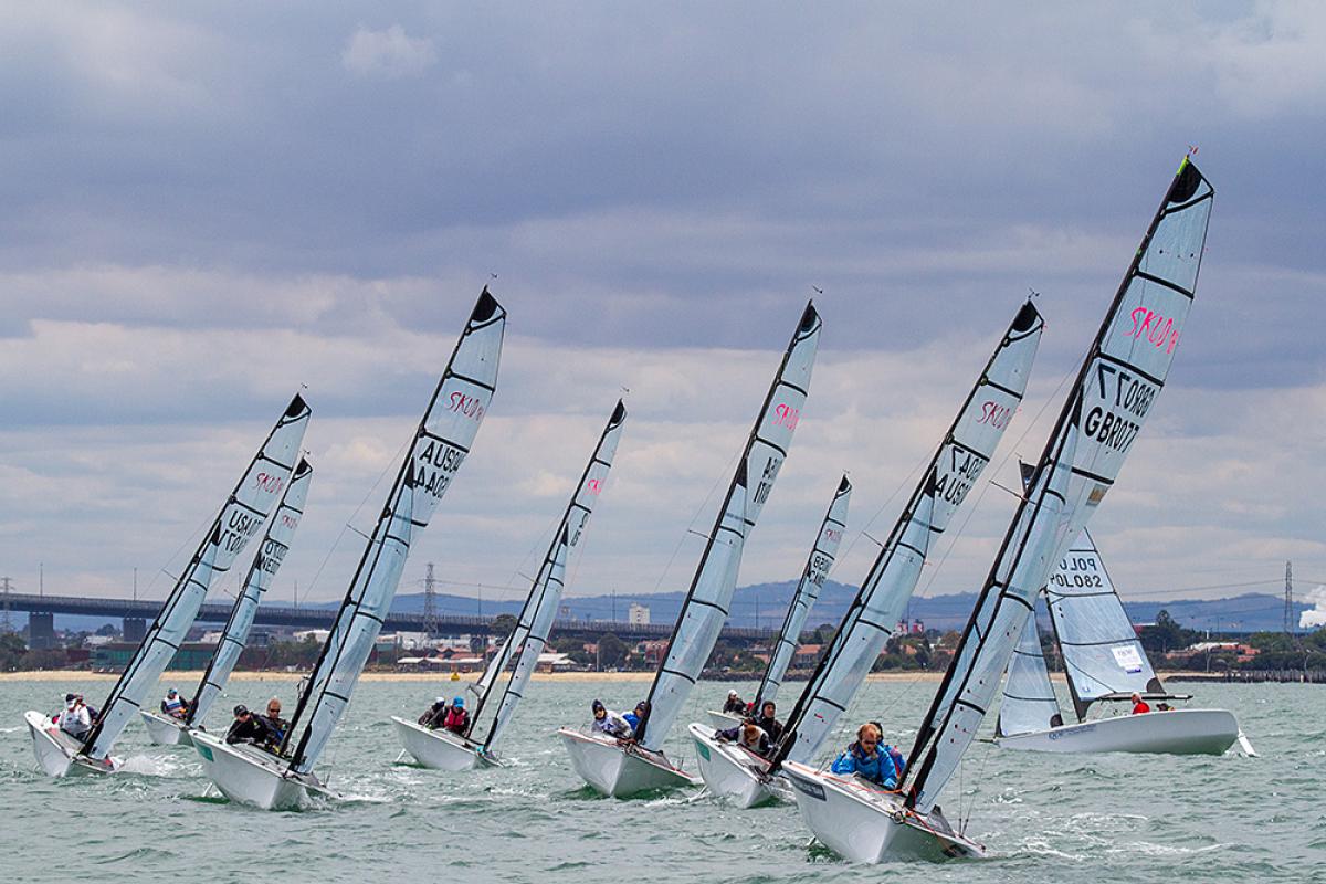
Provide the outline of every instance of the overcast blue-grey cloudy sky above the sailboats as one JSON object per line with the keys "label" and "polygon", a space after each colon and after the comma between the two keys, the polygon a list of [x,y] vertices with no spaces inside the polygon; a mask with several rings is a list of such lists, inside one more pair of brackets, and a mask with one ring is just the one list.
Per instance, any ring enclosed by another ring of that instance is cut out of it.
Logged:
{"label": "overcast blue-grey cloudy sky above the sailboats", "polygon": [[[170,587],[301,383],[274,595],[338,598],[485,282],[499,391],[403,591],[517,598],[621,388],[572,594],[684,590],[812,286],[805,419],[743,583],[842,470],[854,583],[1029,288],[1034,457],[1189,144],[1216,188],[1171,384],[1093,522],[1128,598],[1326,582],[1317,4],[5,4],[0,573]],[[491,274],[497,274],[496,280]],[[1053,399],[1052,399],[1053,396]],[[983,485],[922,582],[979,586]],[[366,504],[365,504],[366,502]],[[357,509],[365,504],[363,509]],[[870,522],[870,520],[874,520]],[[869,526],[867,526],[869,524]],[[845,549],[847,549],[845,543]],[[1246,584],[1246,586],[1244,586]],[[1199,588],[1200,587],[1200,588]],[[224,587],[223,587],[224,590]]]}

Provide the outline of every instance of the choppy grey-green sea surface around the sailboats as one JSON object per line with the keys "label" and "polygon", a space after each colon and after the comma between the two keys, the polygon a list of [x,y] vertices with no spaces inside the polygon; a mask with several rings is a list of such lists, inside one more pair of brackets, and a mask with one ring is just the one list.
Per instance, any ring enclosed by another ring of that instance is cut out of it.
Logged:
{"label": "choppy grey-green sea surface around the sailboats", "polygon": [[[701,683],[692,696],[668,747],[686,767],[695,757],[682,725],[729,687],[754,689]],[[389,720],[418,716],[435,694],[456,693],[455,683],[363,683],[325,758],[343,798],[264,812],[217,797],[192,749],[152,746],[139,722],[119,744],[125,773],[45,777],[23,712],[54,710],[66,689],[97,705],[110,683],[8,681],[0,880],[1326,881],[1326,688],[1187,687],[1199,694],[1193,706],[1233,710],[1260,757],[1044,755],[976,744],[941,803],[955,824],[968,819],[992,859],[863,867],[810,846],[796,806],[741,811],[699,790],[594,795],[553,730],[586,722],[595,697],[633,706],[647,683],[536,681],[499,747],[511,766],[465,774],[398,762]],[[910,746],[934,689],[871,683],[853,721],[878,718],[886,740]],[[273,693],[289,710],[293,691],[239,681],[216,712],[261,706]],[[798,691],[785,688],[788,705]]]}

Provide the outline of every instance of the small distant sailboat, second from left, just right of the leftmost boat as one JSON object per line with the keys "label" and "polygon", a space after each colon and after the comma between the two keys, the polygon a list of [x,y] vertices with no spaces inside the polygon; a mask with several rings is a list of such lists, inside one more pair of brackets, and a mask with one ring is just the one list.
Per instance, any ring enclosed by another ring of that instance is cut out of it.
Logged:
{"label": "small distant sailboat, second from left, just right of the leftmost boat", "polygon": [[290,542],[294,539],[294,529],[298,527],[300,518],[304,516],[304,502],[309,496],[309,485],[312,482],[313,467],[308,460],[301,457],[300,463],[294,467],[294,473],[290,476],[290,482],[285,486],[285,493],[281,494],[281,502],[277,505],[276,513],[272,514],[268,522],[267,534],[263,537],[263,542],[259,543],[257,553],[253,555],[253,563],[249,565],[248,574],[244,577],[244,588],[240,591],[239,598],[235,599],[235,607],[231,608],[231,616],[225,620],[225,628],[216,643],[212,659],[207,663],[207,669],[203,671],[203,679],[192,694],[194,700],[184,718],[172,718],[152,709],[138,710],[138,714],[143,718],[143,724],[147,725],[147,734],[152,742],[159,745],[190,745],[190,729],[203,729],[203,721],[207,718],[208,710],[211,710],[216,698],[221,696],[231,672],[235,669],[235,664],[239,663],[240,653],[244,652],[244,645],[248,643],[249,630],[253,628],[253,618],[257,616],[257,606],[263,599],[263,594],[272,586],[272,580],[276,579],[276,571],[281,567],[281,562],[290,549]]}

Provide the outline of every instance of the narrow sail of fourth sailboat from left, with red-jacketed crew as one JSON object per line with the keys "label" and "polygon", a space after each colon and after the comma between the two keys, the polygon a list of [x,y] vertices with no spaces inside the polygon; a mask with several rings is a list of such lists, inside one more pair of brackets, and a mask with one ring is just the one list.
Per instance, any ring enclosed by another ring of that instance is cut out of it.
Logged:
{"label": "narrow sail of fourth sailboat from left, with red-jacketed crew", "polygon": [[590,456],[589,464],[585,465],[585,472],[575,486],[575,493],[572,494],[572,500],[566,505],[562,521],[557,525],[557,531],[553,534],[553,543],[548,547],[544,565],[538,569],[538,575],[529,590],[525,606],[520,611],[516,628],[507,636],[501,651],[493,656],[483,677],[473,685],[473,691],[479,694],[479,702],[473,712],[475,725],[471,726],[471,734],[479,733],[479,717],[488,706],[493,685],[511,663],[512,656],[517,651],[520,652],[520,657],[516,661],[516,671],[507,683],[507,688],[501,693],[501,701],[497,704],[497,713],[492,718],[488,733],[483,737],[481,745],[485,750],[492,747],[497,741],[497,736],[507,726],[507,722],[511,721],[511,716],[516,712],[516,705],[525,692],[525,685],[529,684],[529,676],[538,665],[538,655],[544,652],[544,645],[548,643],[548,634],[552,632],[553,620],[557,618],[557,607],[561,604],[562,588],[566,579],[566,558],[570,550],[579,542],[581,534],[589,524],[590,513],[594,509],[594,501],[598,500],[607,481],[607,473],[613,468],[613,457],[617,455],[617,444],[622,439],[622,425],[625,421],[626,406],[618,400],[617,407],[613,410],[613,416],[609,419],[607,427],[603,428],[603,433],[598,439],[598,445]]}

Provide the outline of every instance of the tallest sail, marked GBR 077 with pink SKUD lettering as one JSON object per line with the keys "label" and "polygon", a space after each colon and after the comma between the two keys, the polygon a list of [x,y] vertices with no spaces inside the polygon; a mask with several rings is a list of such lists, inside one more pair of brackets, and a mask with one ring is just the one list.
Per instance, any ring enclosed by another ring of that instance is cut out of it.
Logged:
{"label": "tallest sail, marked GBR 077 with pink SKUD lettering", "polygon": [[922,812],[957,769],[1036,594],[1105,500],[1164,386],[1213,196],[1184,159],[1087,351],[908,758],[908,802]]}

